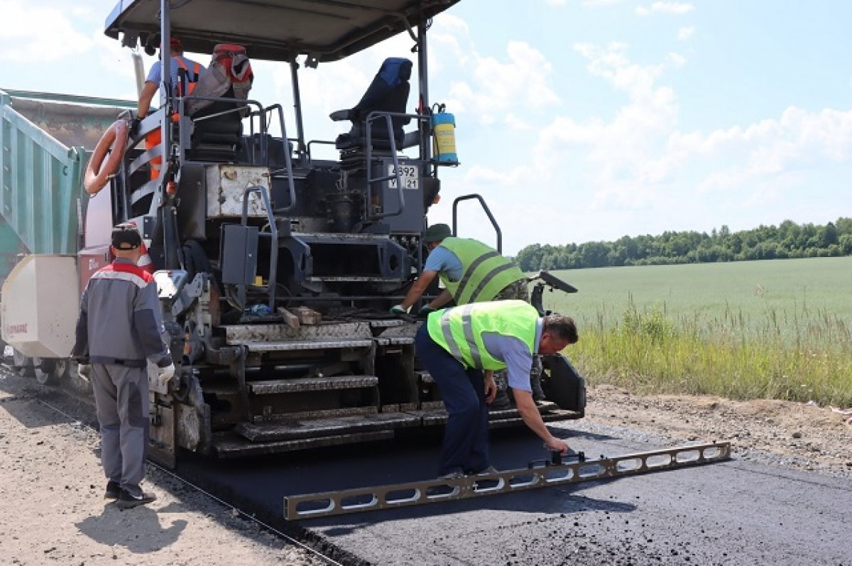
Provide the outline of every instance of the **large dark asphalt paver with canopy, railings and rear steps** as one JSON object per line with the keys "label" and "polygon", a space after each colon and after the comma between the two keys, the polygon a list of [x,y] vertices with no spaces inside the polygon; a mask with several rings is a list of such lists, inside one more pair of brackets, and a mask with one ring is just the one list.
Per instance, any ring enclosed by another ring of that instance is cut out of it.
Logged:
{"label": "large dark asphalt paver with canopy, railings and rear steps", "polygon": [[[109,228],[118,222],[139,229],[155,270],[177,371],[150,393],[154,459],[174,465],[183,450],[234,458],[371,442],[446,421],[413,347],[423,321],[389,309],[423,269],[440,171],[459,165],[447,138],[452,117],[429,101],[427,66],[431,21],[456,3],[123,0],[107,16],[105,33],[124,46],[153,55],[174,34],[186,51],[216,54],[228,77],[214,93],[201,92],[202,80],[187,95],[160,84],[151,113],[105,129],[95,153],[112,148],[121,159],[115,170],[89,164],[86,178],[100,177],[104,188],[86,182],[91,194],[79,199],[85,212],[69,254],[75,293],[109,261]],[[322,72],[399,34],[412,48],[384,61],[360,101],[331,113],[348,132],[309,139],[302,72]],[[238,60],[239,69],[228,67]],[[292,116],[238,84],[256,60],[289,67]],[[161,64],[169,77],[175,62]],[[155,130],[159,141],[146,145]],[[320,146],[337,158],[314,155]],[[480,195],[452,203],[453,232],[468,200],[484,208],[500,248],[498,222]],[[531,285],[543,313],[545,290],[576,291],[546,273]],[[32,292],[35,303],[54,300],[49,290]],[[543,366],[543,419],[582,417],[584,380],[563,355],[544,356]],[[493,410],[490,423],[522,420],[513,407]]]}

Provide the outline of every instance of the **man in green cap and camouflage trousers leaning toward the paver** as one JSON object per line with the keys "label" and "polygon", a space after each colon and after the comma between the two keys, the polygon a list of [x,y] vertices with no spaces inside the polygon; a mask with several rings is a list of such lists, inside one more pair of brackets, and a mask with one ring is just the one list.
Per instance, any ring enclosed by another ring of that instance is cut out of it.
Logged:
{"label": "man in green cap and camouflage trousers leaning toward the paver", "polygon": [[[529,303],[527,278],[514,262],[479,240],[455,238],[446,224],[433,224],[423,233],[423,244],[429,257],[423,265],[423,273],[414,281],[402,303],[390,309],[393,314],[408,312],[412,304],[423,296],[423,292],[437,275],[444,284],[440,294],[420,309],[418,316],[425,316],[455,300],[457,305],[520,299]],[[505,372],[494,376],[497,396],[491,403],[493,409],[507,409],[509,405],[509,381]],[[533,401],[544,401],[541,388],[541,361],[533,361],[530,375],[533,385]]]}

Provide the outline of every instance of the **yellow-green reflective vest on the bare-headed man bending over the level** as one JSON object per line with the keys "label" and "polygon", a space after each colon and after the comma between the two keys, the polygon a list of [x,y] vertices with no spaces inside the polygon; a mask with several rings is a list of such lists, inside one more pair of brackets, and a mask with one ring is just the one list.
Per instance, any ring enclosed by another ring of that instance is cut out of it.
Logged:
{"label": "yellow-green reflective vest on the bare-headed man bending over the level", "polygon": [[534,353],[538,310],[524,301],[471,303],[429,315],[429,338],[465,367],[499,370],[506,364],[492,357],[482,335],[496,332],[520,338]]}

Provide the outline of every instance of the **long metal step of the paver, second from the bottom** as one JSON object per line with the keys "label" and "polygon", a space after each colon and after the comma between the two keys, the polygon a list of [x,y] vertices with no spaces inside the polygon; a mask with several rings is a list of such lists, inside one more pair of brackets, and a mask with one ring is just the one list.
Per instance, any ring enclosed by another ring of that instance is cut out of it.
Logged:
{"label": "long metal step of the paver, second from the bottom", "polygon": [[[312,437],[340,436],[360,432],[393,430],[420,425],[420,417],[412,413],[377,413],[332,419],[305,419],[285,423],[239,423],[234,431],[251,442],[308,439]],[[319,438],[318,438],[319,440]]]}

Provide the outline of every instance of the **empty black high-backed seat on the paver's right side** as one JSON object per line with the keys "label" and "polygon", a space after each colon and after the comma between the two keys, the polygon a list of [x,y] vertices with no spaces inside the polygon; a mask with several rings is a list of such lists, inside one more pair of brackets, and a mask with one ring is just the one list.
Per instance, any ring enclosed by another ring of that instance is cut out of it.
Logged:
{"label": "empty black high-backed seat on the paver's right side", "polygon": [[[412,61],[400,57],[385,59],[360,102],[348,110],[331,113],[332,120],[352,122],[352,129],[348,133],[337,136],[335,147],[340,150],[364,147],[366,118],[371,112],[405,113],[411,88],[408,81],[411,77]],[[409,123],[410,118],[391,118],[391,121],[394,142],[397,148],[401,148],[405,136],[402,127]],[[372,120],[370,136],[373,149],[390,149],[391,133],[385,118]]]}

